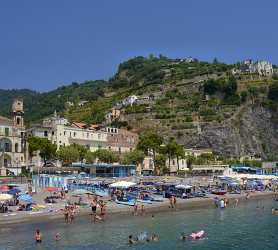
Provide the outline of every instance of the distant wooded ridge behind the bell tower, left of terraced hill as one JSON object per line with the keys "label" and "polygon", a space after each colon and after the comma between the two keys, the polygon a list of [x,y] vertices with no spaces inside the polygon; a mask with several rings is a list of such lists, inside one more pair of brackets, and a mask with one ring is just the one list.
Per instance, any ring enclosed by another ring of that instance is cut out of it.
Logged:
{"label": "distant wooded ridge behind the bell tower, left of terraced hill", "polygon": [[63,113],[68,107],[67,102],[77,105],[79,101],[93,101],[104,95],[105,81],[87,81],[81,84],[72,83],[56,90],[39,93],[27,89],[0,89],[0,115],[11,114],[11,104],[14,98],[23,98],[25,121],[38,121],[53,114],[56,110]]}

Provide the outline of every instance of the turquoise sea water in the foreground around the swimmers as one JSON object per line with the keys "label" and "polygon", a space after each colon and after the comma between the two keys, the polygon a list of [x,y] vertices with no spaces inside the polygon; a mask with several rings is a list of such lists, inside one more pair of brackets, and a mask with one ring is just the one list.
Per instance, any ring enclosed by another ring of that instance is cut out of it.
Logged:
{"label": "turquoise sea water in the foreground around the swimmers", "polygon": [[[200,209],[161,213],[151,219],[146,217],[124,217],[105,223],[91,224],[86,217],[77,218],[73,225],[63,222],[22,224],[17,227],[2,228],[0,249],[278,249],[278,216],[271,215],[271,208],[278,202],[271,200],[252,201],[237,208],[225,210]],[[260,208],[256,208],[259,206]],[[264,207],[264,208],[262,208]],[[33,232],[40,228],[43,243],[36,245]],[[205,230],[204,239],[182,242],[181,232]],[[129,234],[155,232],[159,242],[127,245]],[[59,232],[62,240],[54,242],[54,234]]]}

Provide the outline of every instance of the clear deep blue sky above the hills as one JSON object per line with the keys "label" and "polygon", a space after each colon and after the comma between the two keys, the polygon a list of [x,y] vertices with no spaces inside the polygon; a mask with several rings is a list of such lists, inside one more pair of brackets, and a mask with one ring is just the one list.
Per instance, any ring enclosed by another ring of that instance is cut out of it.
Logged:
{"label": "clear deep blue sky above the hills", "polygon": [[0,88],[108,79],[137,55],[278,64],[276,0],[0,3]]}

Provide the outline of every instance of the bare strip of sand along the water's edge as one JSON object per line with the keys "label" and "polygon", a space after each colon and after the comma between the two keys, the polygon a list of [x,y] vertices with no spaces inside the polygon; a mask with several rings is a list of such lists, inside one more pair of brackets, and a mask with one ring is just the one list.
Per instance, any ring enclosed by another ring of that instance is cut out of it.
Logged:
{"label": "bare strip of sand along the water's edge", "polygon": [[[264,200],[264,199],[271,199],[275,198],[277,194],[274,192],[255,192],[251,193],[250,197],[246,199],[244,194],[237,194],[237,195],[226,195],[226,196],[218,196],[226,197],[229,199],[229,206],[232,207],[234,205],[235,199],[239,200],[239,206],[241,203],[246,203],[249,201],[254,200]],[[213,196],[215,197],[215,196]],[[169,208],[169,202],[168,200],[164,202],[157,202],[153,204],[144,204],[146,215],[148,216],[150,214],[158,214],[158,213],[164,213],[164,212],[171,212],[171,211],[188,211],[188,210],[198,210],[198,209],[212,209],[215,208],[214,206],[214,200],[213,197],[208,198],[193,198],[193,199],[178,199],[177,201],[177,208],[171,209]],[[141,204],[140,204],[141,205]],[[140,209],[138,209],[140,211]],[[132,215],[133,207],[124,206],[124,205],[116,205],[115,203],[109,203],[107,206],[107,218],[108,220],[113,220],[118,217],[128,217]],[[80,212],[76,215],[76,218],[79,217],[89,217],[91,213],[90,208],[82,208]],[[1,216],[0,217],[0,226],[3,225],[17,225],[17,224],[33,224],[33,223],[47,223],[50,221],[63,221],[64,215],[61,211],[59,212],[52,212],[52,213],[34,213],[34,214],[18,214],[16,216]],[[105,223],[105,222],[104,222]],[[74,224],[72,224],[74,225]]]}

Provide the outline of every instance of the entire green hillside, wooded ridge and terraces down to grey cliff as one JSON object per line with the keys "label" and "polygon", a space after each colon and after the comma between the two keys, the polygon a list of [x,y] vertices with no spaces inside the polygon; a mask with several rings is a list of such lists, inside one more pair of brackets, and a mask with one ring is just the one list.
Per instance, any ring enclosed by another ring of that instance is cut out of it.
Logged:
{"label": "entire green hillside, wooded ridge and terraces down to grey cliff", "polygon": [[[0,112],[7,114],[11,99],[22,96],[29,121],[57,110],[72,121],[101,123],[112,107],[136,95],[137,103],[122,107],[113,126],[156,130],[186,147],[210,147],[224,156],[276,159],[278,81],[255,75],[235,79],[233,67],[217,60],[136,57],[120,64],[108,82],[73,83],[48,93],[0,91]],[[81,100],[88,103],[79,106]]]}

